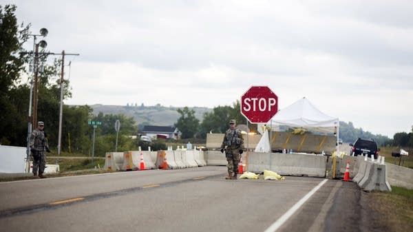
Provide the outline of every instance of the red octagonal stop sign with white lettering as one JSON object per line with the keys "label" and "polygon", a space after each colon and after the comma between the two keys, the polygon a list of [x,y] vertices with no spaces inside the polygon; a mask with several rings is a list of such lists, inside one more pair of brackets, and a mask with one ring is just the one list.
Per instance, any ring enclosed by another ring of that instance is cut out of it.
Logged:
{"label": "red octagonal stop sign with white lettering", "polygon": [[268,123],[278,111],[278,96],[267,86],[252,86],[241,96],[241,114],[251,123]]}

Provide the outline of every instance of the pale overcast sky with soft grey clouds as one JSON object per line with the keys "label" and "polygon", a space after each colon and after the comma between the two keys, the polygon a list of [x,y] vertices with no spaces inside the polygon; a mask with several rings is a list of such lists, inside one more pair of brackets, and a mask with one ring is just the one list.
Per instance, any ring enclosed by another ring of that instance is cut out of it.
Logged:
{"label": "pale overcast sky with soft grey clouds", "polygon": [[305,96],[373,134],[413,125],[413,1],[6,3],[48,50],[81,54],[66,104],[213,108],[266,85],[279,109]]}

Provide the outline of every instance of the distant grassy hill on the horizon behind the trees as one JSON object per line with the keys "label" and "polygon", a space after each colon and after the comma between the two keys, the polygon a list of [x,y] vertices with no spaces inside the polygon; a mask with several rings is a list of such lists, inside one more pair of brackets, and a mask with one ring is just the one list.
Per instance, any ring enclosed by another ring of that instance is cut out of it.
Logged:
{"label": "distant grassy hill on the horizon behind the trees", "polygon": [[[123,114],[127,117],[133,117],[138,123],[138,128],[142,129],[144,125],[173,126],[180,114],[177,109],[183,107],[165,107],[162,105],[155,106],[135,106],[135,105],[89,105],[93,109],[93,114]],[[205,112],[212,112],[213,109],[207,107],[189,107],[195,111],[195,117],[202,122]]]}

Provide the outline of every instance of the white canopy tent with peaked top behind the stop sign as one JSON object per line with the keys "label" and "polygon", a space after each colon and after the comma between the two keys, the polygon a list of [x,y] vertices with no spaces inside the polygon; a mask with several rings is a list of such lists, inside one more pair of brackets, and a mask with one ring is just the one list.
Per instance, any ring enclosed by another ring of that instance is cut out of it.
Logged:
{"label": "white canopy tent with peaked top behind the stop sign", "polygon": [[335,133],[339,155],[339,118],[324,114],[305,97],[279,110],[267,125],[287,125]]}

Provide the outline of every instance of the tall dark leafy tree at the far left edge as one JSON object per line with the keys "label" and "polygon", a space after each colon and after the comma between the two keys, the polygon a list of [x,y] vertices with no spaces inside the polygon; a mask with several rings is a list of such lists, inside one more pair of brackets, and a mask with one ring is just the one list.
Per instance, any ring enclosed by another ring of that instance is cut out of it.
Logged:
{"label": "tall dark leafy tree at the far left edge", "polygon": [[[12,94],[21,93],[15,91],[25,62],[19,52],[23,51],[22,44],[27,40],[28,34],[28,26],[24,27],[22,24],[23,29],[19,30],[14,14],[16,8],[14,5],[4,7],[0,5],[0,143],[3,145],[21,145],[27,138],[24,127],[27,129],[28,114],[23,117],[23,122],[26,123],[21,122],[22,117],[17,115],[27,112],[28,109],[24,111],[21,107],[14,105],[17,101],[24,101],[24,99],[12,97]],[[20,134],[22,132],[25,135],[23,138]]]}

